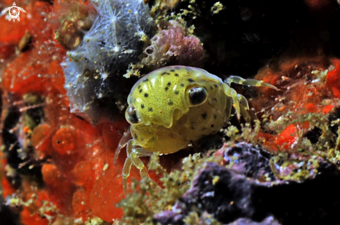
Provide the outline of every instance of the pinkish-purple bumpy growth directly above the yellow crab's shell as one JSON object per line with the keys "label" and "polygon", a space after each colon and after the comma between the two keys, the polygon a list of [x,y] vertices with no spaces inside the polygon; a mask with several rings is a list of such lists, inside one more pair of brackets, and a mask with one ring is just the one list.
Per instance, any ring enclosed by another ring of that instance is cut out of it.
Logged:
{"label": "pinkish-purple bumpy growth directly above the yellow crab's shell", "polygon": [[175,64],[202,66],[205,53],[200,39],[188,34],[177,21],[171,20],[159,27],[161,30],[145,48],[145,64],[159,67],[167,64],[170,57],[175,57]]}

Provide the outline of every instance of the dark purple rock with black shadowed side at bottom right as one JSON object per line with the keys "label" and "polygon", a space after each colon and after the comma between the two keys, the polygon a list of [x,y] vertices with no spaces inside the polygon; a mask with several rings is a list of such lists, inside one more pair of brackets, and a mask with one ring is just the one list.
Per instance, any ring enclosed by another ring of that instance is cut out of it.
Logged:
{"label": "dark purple rock with black shadowed side at bottom right", "polygon": [[[252,169],[258,170],[256,161],[260,159],[259,163],[265,162],[264,164],[268,161],[261,151],[255,151],[249,145],[245,146],[238,146],[235,150],[228,149],[226,155],[238,152],[238,159],[241,160],[234,160],[239,167],[234,168],[238,172],[253,174],[256,178],[257,174],[251,172]],[[247,148],[250,151],[247,151]],[[303,159],[302,156],[291,157]],[[255,165],[254,168],[252,165]],[[298,170],[297,167],[293,168],[294,163],[289,165],[291,167],[284,168]],[[284,168],[281,174],[286,171]],[[319,158],[318,168],[314,168],[314,173],[307,177],[303,181],[277,177],[277,181],[259,182],[216,163],[204,163],[193,181],[192,188],[172,206],[172,210],[155,215],[154,221],[161,224],[184,224],[183,219],[193,211],[198,215],[207,212],[223,224],[239,218],[260,222],[270,215],[277,218],[281,224],[329,224],[337,219],[337,212],[340,210],[340,172],[336,165]]]}

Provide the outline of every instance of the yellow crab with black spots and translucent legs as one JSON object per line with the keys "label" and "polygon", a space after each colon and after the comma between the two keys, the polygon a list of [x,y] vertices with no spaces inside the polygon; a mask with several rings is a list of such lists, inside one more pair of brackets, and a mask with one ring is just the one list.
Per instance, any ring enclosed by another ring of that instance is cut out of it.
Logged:
{"label": "yellow crab with black spots and translucent legs", "polygon": [[[230,76],[223,82],[203,69],[188,66],[167,66],[152,71],[138,80],[127,99],[125,112],[131,124],[115,152],[127,145],[127,159],[122,169],[124,195],[131,166],[147,177],[147,169],[139,159],[154,152],[171,154],[185,149],[202,136],[216,134],[232,116],[232,107],[239,119],[250,120],[248,101],[230,87],[237,84],[277,88],[263,81]],[[132,137],[132,138],[131,138]]]}

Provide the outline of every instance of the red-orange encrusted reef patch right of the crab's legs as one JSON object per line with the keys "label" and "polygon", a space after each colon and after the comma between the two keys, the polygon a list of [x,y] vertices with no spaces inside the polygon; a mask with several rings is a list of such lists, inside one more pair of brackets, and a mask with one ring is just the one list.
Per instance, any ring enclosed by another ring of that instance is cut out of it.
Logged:
{"label": "red-orange encrusted reef patch right of the crab's legs", "polygon": [[[336,82],[330,82],[337,79],[336,66],[337,60],[309,57],[259,70],[255,78],[263,78],[281,90],[278,95],[270,90],[260,90],[259,96],[250,101],[258,117],[266,118],[264,121],[269,122],[264,126],[266,132],[275,133],[259,134],[266,141],[268,149],[291,151],[304,148],[299,143],[314,127],[323,130],[323,138],[327,139],[328,146],[335,145],[337,132],[330,134],[325,124],[329,122],[327,117],[332,109],[339,107],[336,96],[339,87]],[[296,94],[298,92],[301,94]],[[324,147],[324,144],[325,141],[320,147]]]}

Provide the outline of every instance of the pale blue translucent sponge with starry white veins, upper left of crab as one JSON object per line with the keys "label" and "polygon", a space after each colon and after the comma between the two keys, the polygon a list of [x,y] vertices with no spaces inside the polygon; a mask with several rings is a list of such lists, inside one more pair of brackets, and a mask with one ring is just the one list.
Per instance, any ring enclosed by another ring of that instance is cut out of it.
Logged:
{"label": "pale blue translucent sponge with starry white veins, upper left of crab", "polygon": [[[118,111],[129,64],[142,53],[142,39],[154,29],[149,7],[143,0],[91,1],[97,18],[83,42],[62,63],[71,111],[90,123],[100,123]],[[127,93],[126,93],[127,92]]]}

